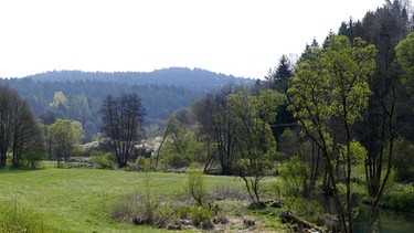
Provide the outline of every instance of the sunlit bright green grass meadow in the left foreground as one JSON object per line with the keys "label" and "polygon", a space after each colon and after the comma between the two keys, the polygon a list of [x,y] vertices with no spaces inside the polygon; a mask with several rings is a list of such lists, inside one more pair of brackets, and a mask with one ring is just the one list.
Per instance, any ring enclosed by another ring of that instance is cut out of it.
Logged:
{"label": "sunlit bright green grass meadow in the left foreground", "polygon": [[[151,172],[155,195],[184,195],[185,174]],[[159,232],[114,221],[108,206],[144,189],[141,172],[98,169],[0,170],[0,209],[30,213],[52,232]],[[206,177],[206,188],[243,186],[234,177]]]}

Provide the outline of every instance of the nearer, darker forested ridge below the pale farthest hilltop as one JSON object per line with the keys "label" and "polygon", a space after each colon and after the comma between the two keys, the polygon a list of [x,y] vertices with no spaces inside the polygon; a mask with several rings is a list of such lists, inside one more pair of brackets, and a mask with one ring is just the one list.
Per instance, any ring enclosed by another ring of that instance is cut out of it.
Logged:
{"label": "nearer, darker forested ridge below the pale farthest hilltop", "polygon": [[139,93],[147,109],[148,124],[158,124],[174,109],[189,106],[192,99],[201,96],[178,86],[127,85],[107,82],[34,82],[31,80],[1,80],[1,85],[17,89],[30,103],[35,115],[52,112],[60,118],[82,123],[86,139],[100,131],[99,108],[106,95]]}

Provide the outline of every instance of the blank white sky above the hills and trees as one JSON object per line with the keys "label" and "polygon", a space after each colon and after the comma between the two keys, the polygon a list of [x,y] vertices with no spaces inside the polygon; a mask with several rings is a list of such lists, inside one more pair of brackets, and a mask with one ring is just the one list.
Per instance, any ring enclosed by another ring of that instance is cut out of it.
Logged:
{"label": "blank white sky above the hills and trees", "polygon": [[384,0],[0,0],[0,77],[182,66],[262,78]]}

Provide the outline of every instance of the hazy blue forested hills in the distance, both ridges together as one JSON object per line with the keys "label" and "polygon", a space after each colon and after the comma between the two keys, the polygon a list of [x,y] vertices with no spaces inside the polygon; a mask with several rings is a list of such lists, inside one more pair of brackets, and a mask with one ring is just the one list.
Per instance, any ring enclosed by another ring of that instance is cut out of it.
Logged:
{"label": "hazy blue forested hills in the distance, both ridges together", "polygon": [[109,94],[137,93],[147,112],[146,123],[152,124],[229,83],[251,85],[253,80],[199,68],[164,68],[150,73],[53,71],[23,78],[0,78],[0,85],[29,99],[38,117],[52,112],[60,118],[81,121],[88,137],[100,130],[99,108]]}

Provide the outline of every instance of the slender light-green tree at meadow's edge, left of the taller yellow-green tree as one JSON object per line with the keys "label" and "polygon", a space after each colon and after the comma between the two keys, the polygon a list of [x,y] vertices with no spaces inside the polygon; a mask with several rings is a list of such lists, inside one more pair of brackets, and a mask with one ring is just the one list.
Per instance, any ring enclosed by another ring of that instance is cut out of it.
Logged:
{"label": "slender light-green tree at meadow's edge, left of the taller yellow-green tree", "polygon": [[241,177],[247,192],[261,208],[259,181],[276,157],[276,140],[270,123],[276,119],[276,108],[285,102],[276,91],[262,91],[258,96],[247,96],[240,91],[226,97],[229,112],[235,120],[238,158],[235,172]]}

